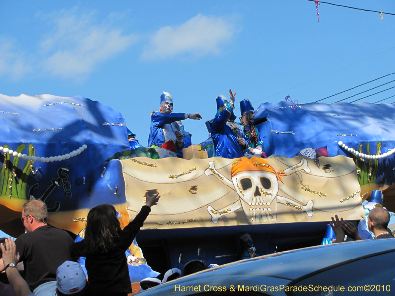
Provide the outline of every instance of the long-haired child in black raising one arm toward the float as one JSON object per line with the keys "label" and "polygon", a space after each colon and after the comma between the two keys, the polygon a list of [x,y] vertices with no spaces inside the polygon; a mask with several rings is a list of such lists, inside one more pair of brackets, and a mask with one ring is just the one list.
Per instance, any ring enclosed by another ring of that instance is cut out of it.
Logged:
{"label": "long-haired child in black raising one arm toward the float", "polygon": [[159,198],[159,193],[152,196],[147,193],[146,205],[123,230],[112,205],[99,205],[89,211],[85,239],[72,245],[71,254],[86,257],[90,295],[132,293],[125,251]]}

